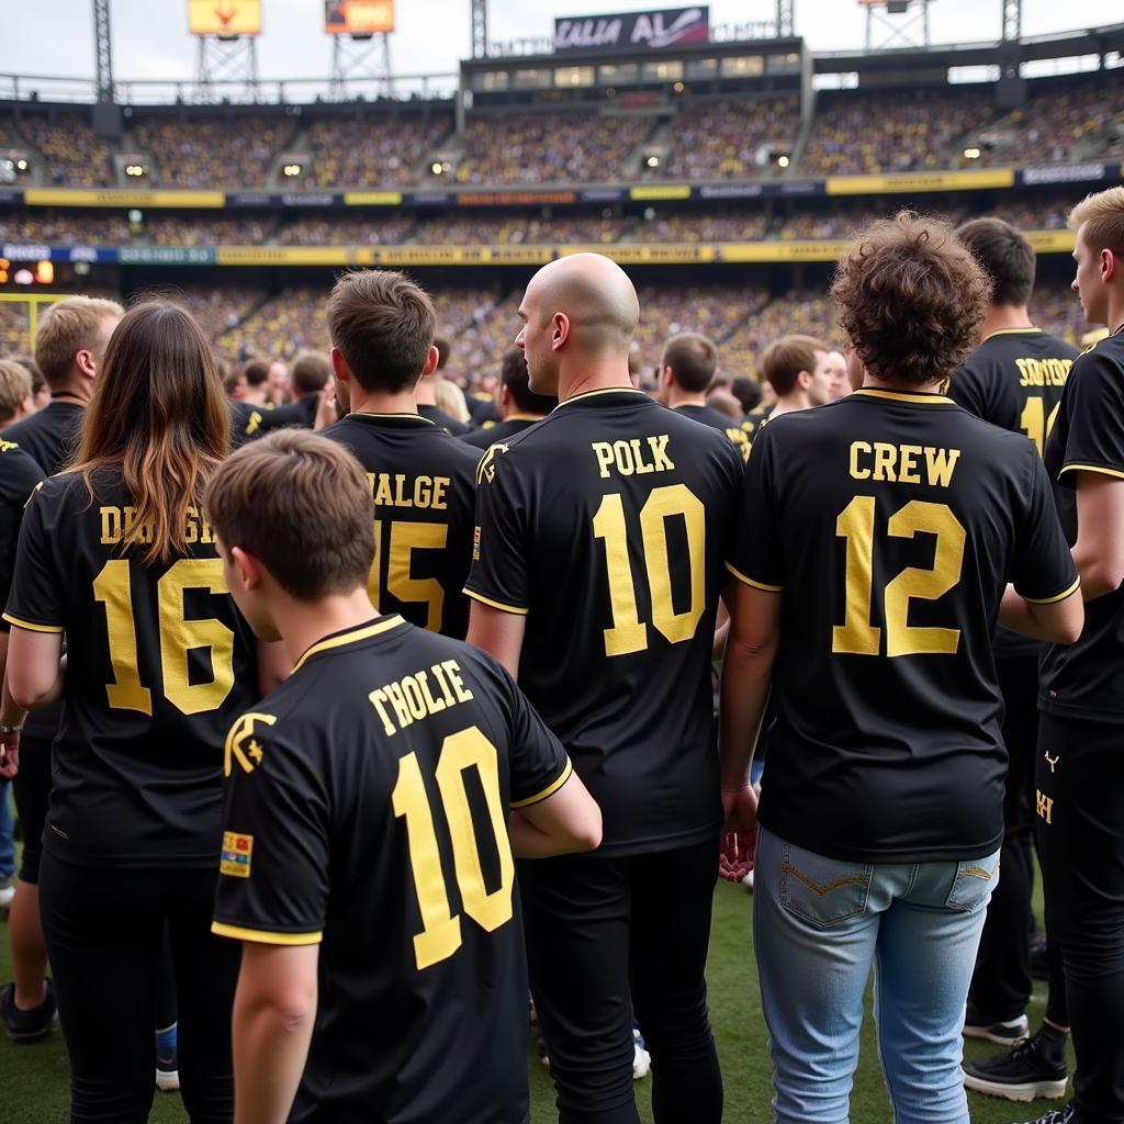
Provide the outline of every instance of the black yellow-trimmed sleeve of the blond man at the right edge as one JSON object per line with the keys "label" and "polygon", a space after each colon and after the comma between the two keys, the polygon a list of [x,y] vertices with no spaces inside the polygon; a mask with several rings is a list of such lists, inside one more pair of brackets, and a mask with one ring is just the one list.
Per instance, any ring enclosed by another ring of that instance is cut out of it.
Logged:
{"label": "black yellow-trimmed sleeve of the blond man at the right edge", "polygon": [[1066,388],[1069,429],[1058,482],[1077,487],[1077,472],[1124,478],[1124,377],[1094,348],[1073,365]]}

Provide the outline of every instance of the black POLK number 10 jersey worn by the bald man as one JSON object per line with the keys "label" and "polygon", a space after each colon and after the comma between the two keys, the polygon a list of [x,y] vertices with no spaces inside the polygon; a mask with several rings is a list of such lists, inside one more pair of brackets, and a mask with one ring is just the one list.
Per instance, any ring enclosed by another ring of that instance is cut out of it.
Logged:
{"label": "black POLK number 10 jersey worn by the bald man", "polygon": [[637,390],[571,398],[480,462],[466,592],[527,615],[519,685],[601,806],[601,852],[720,824],[710,651],[741,475]]}

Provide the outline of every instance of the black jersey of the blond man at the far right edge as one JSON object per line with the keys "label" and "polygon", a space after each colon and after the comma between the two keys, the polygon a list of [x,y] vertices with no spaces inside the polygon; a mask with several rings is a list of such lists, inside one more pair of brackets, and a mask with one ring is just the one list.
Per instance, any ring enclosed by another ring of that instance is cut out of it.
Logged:
{"label": "black jersey of the blond man at the far right edge", "polygon": [[[1072,545],[1076,473],[1124,477],[1124,333],[1102,339],[1073,364],[1045,462]],[[1048,714],[1124,722],[1124,587],[1086,601],[1080,638],[1046,649],[1040,682],[1040,707]]]}

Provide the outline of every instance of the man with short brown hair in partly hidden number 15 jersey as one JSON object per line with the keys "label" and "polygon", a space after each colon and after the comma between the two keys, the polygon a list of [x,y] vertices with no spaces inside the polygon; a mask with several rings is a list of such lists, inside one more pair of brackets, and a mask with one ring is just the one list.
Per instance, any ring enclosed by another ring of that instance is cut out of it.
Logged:
{"label": "man with short brown hair in partly hidden number 15 jersey", "polygon": [[438,362],[433,303],[400,273],[363,270],[336,282],[327,317],[346,416],[324,436],[350,448],[370,481],[371,602],[463,638],[479,455],[418,413],[418,381]]}

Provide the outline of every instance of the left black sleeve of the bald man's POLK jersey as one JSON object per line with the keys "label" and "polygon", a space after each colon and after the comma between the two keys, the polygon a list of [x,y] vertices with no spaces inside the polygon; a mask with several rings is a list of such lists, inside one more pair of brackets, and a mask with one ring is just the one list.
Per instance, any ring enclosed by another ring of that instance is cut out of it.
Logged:
{"label": "left black sleeve of the bald man's POLK jersey", "polygon": [[525,615],[531,607],[526,517],[520,473],[492,445],[477,469],[477,525],[464,592],[474,600]]}

